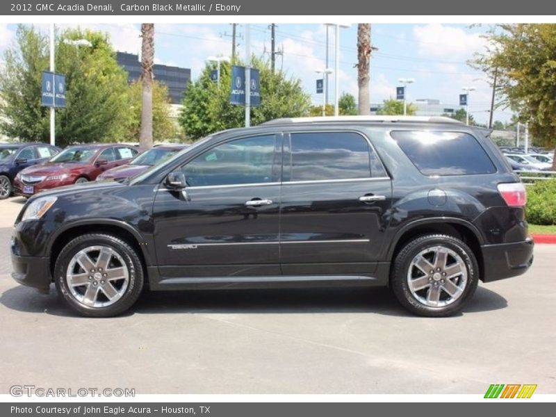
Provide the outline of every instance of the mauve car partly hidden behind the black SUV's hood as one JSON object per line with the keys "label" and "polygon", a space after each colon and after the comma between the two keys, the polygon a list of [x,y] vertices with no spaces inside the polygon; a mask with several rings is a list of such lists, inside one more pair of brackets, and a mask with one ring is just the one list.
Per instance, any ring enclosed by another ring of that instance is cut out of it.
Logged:
{"label": "mauve car partly hidden behind the black SUV's hood", "polygon": [[122,179],[133,177],[148,170],[153,165],[163,163],[167,158],[170,158],[173,154],[181,151],[181,149],[185,149],[187,146],[188,145],[158,145],[157,147],[152,147],[136,156],[130,163],[104,171],[97,177],[97,181],[106,181],[108,179],[121,181]]}

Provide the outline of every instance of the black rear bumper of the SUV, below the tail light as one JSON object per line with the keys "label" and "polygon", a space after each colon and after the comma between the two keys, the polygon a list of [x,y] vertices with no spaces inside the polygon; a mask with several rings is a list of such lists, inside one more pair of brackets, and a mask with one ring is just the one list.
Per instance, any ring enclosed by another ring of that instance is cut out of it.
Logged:
{"label": "black rear bumper of the SUV, below the tail light", "polygon": [[531,238],[521,242],[482,246],[482,280],[491,282],[524,274],[533,263],[533,247]]}

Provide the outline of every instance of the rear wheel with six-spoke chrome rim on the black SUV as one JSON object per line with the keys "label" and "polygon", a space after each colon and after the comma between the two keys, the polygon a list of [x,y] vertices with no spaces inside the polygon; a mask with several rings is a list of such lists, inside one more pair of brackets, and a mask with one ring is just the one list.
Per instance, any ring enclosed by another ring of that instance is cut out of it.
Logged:
{"label": "rear wheel with six-spoke chrome rim on the black SUV", "polygon": [[447,317],[459,312],[479,281],[473,251],[461,240],[442,234],[420,236],[396,256],[391,286],[411,313]]}

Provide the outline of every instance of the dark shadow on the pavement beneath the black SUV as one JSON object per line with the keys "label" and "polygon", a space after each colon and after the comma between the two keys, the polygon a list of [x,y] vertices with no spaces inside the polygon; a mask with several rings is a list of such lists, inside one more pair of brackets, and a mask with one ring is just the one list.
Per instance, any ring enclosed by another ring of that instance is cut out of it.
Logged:
{"label": "dark shadow on the pavement beneath the black SUV", "polygon": [[[16,286],[0,295],[0,304],[26,313],[79,317],[58,297],[55,288],[51,290],[49,295],[40,295],[32,288]],[[504,297],[479,287],[463,313],[498,310],[506,306]],[[415,317],[405,311],[385,287],[145,291],[125,316],[156,313],[375,313]]]}

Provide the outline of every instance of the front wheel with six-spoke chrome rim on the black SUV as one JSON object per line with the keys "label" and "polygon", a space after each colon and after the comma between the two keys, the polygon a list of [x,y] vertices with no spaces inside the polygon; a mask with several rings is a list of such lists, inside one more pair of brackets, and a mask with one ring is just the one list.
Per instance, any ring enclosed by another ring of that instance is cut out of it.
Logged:
{"label": "front wheel with six-spoke chrome rim on the black SUV", "polygon": [[126,241],[110,234],[85,234],[58,255],[54,283],[81,315],[112,317],[137,301],[144,274],[138,254]]}

